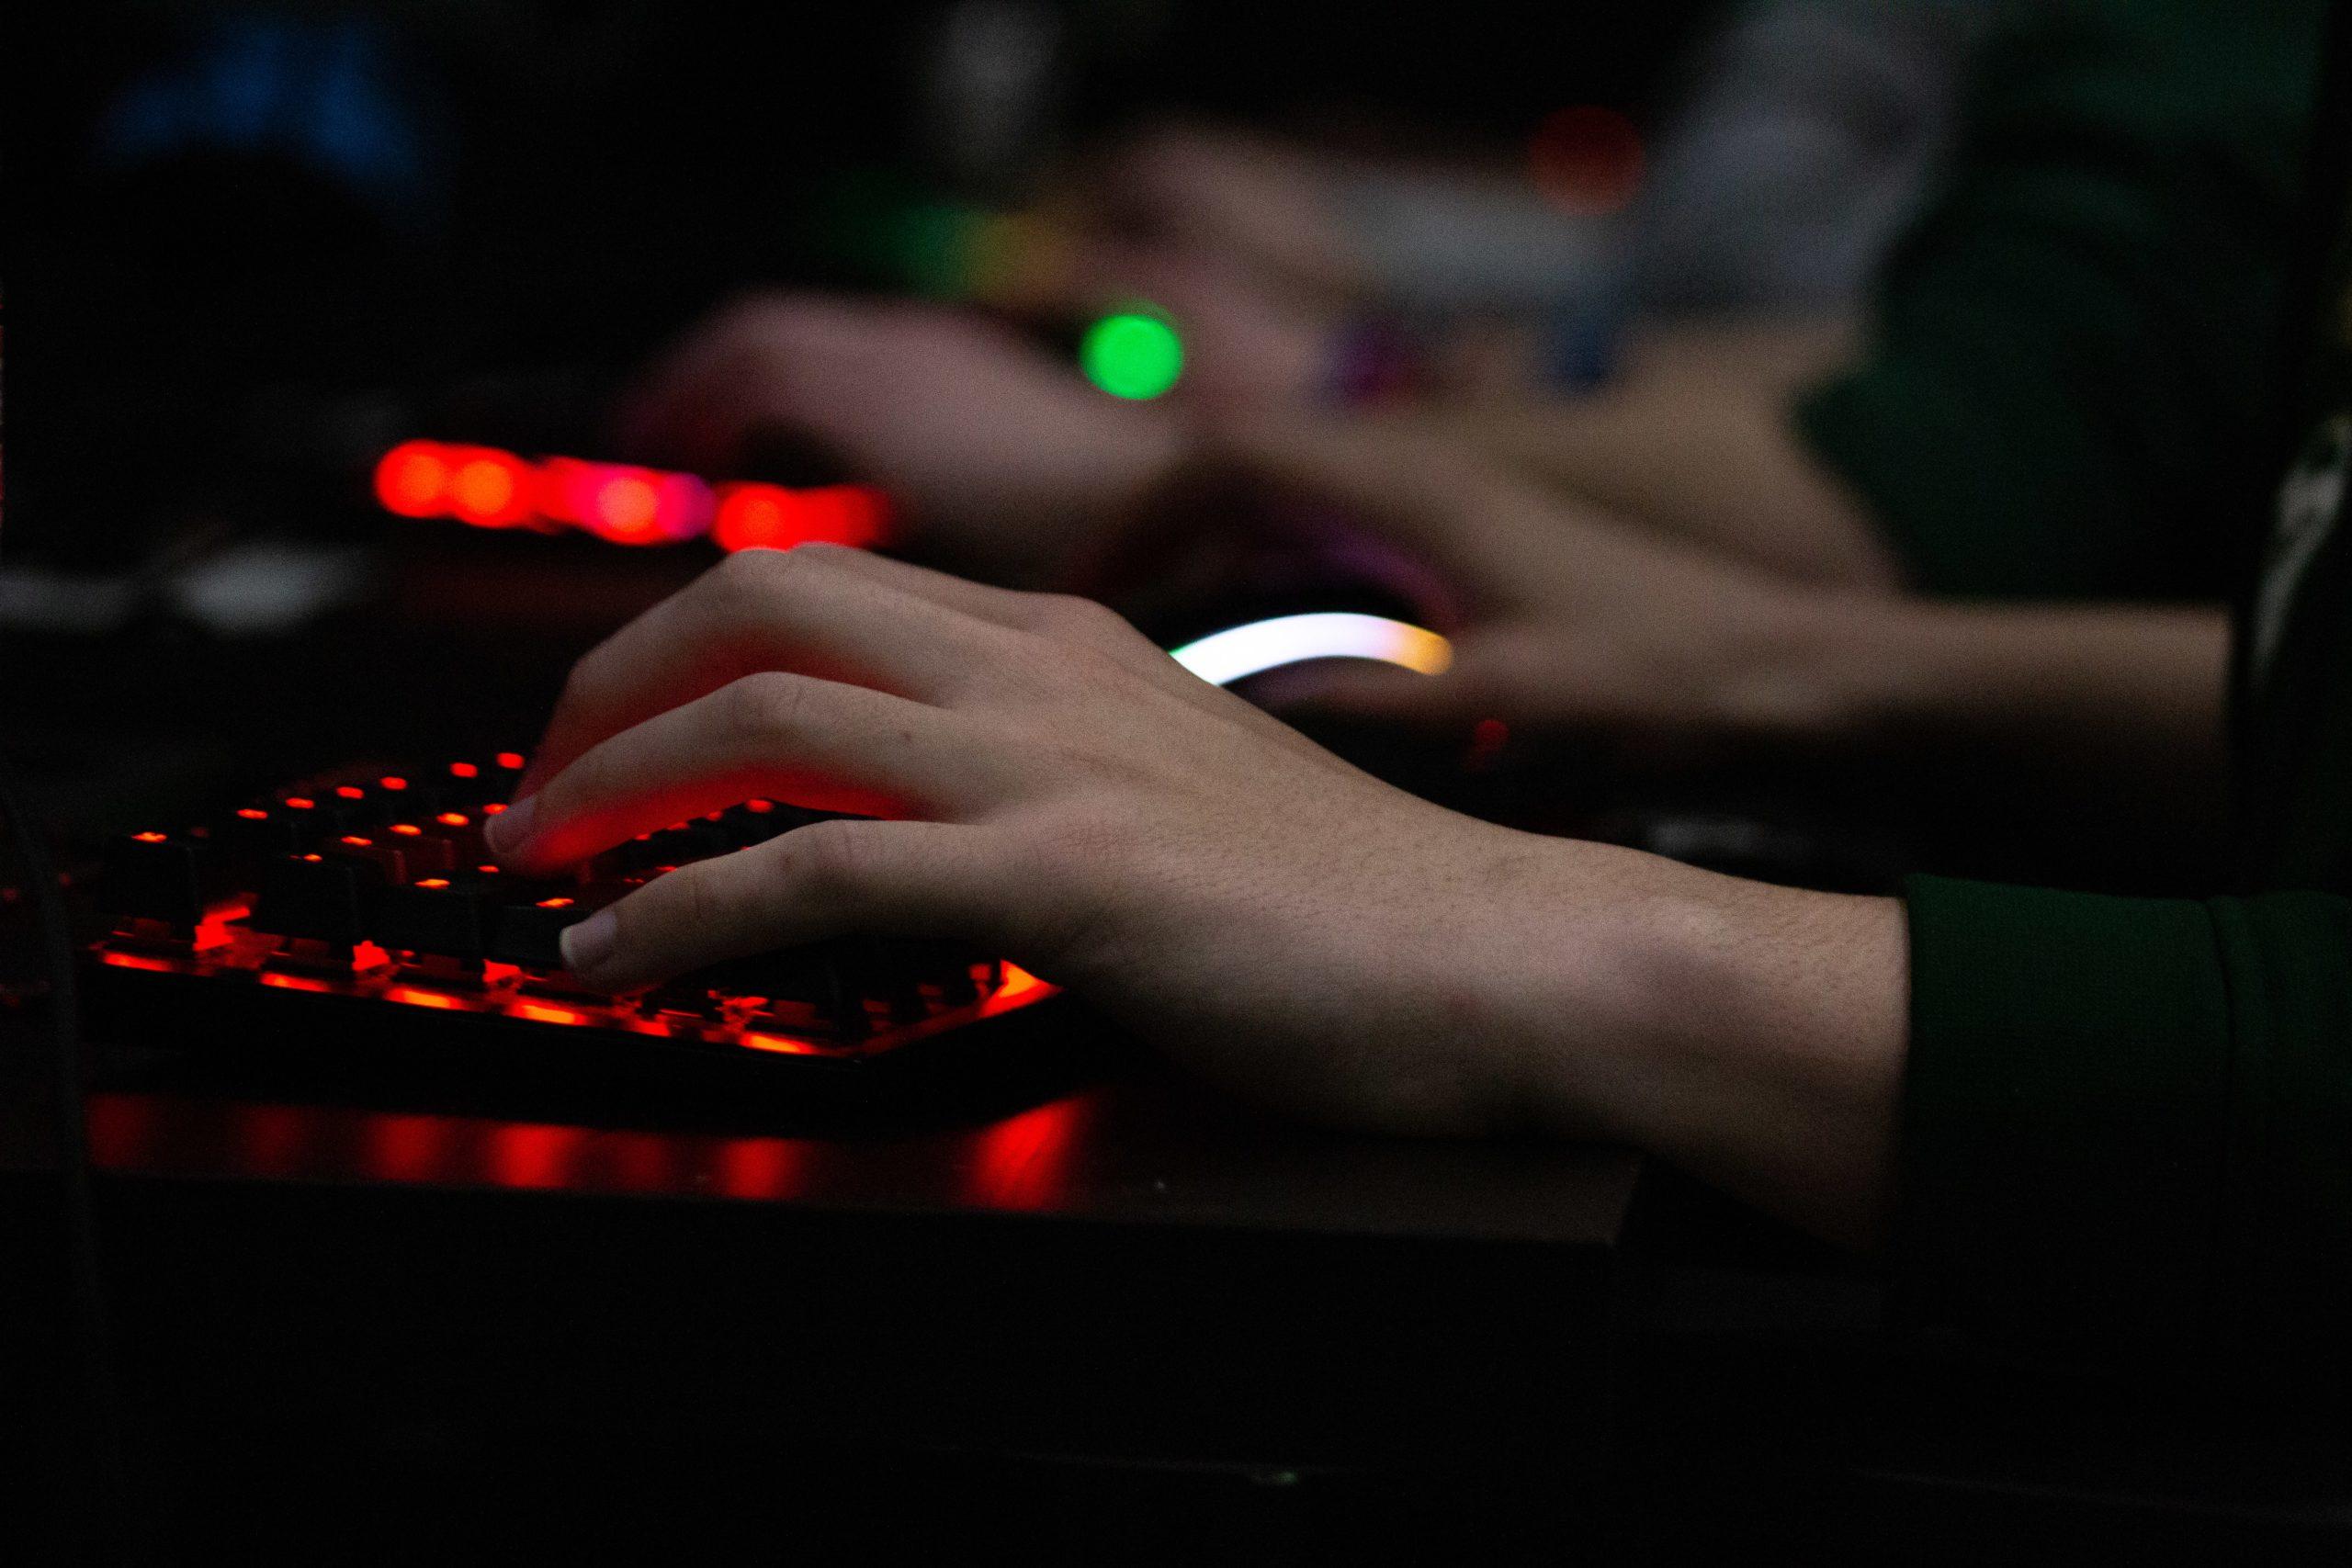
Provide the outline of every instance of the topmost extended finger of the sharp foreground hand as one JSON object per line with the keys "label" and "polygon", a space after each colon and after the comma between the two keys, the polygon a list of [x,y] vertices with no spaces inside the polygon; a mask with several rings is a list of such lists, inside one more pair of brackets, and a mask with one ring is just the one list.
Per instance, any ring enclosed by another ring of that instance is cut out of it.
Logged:
{"label": "topmost extended finger of the sharp foreground hand", "polygon": [[757,670],[929,698],[1000,651],[990,623],[856,559],[837,545],[746,550],[623,625],[574,665],[515,799],[607,736]]}

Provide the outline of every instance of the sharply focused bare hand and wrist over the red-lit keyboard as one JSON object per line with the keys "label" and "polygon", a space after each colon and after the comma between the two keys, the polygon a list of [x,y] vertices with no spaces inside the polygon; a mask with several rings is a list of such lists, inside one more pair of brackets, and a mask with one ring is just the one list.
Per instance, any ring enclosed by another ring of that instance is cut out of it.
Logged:
{"label": "sharply focused bare hand and wrist over the red-lit keyboard", "polygon": [[804,545],[588,654],[513,867],[767,795],[889,811],[656,877],[593,985],[880,931],[988,945],[1317,1119],[1658,1150],[1825,1234],[1886,1199],[1900,910],[1475,823],[1381,785],[1108,611]]}

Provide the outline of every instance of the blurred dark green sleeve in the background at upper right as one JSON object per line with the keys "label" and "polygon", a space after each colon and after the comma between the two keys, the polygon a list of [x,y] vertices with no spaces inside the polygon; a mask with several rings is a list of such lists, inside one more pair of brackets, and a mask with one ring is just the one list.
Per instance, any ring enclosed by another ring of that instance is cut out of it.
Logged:
{"label": "blurred dark green sleeve in the background at upper right", "polygon": [[1806,447],[1952,595],[2213,597],[2270,494],[2321,0],[2037,0]]}

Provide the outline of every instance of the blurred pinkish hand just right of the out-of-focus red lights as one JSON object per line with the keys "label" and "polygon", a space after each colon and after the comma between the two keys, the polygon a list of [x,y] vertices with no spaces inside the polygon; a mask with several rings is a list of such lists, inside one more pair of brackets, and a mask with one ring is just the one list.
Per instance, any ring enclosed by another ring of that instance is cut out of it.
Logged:
{"label": "blurred pinkish hand just right of the out-of-focus red lights", "polygon": [[927,545],[1011,578],[1058,576],[1160,473],[1176,433],[1011,331],[934,306],[753,296],[644,381],[623,442],[729,473],[760,433],[837,454]]}

